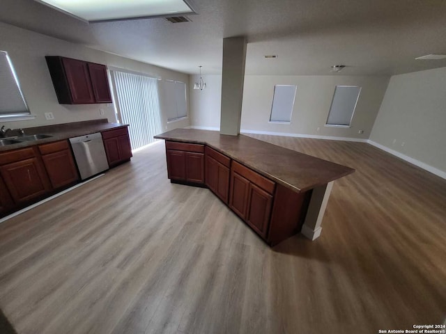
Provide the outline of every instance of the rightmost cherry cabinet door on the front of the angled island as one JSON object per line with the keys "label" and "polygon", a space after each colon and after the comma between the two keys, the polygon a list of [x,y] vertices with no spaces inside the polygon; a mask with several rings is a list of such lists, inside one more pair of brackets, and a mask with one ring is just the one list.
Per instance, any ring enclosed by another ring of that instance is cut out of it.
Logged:
{"label": "rightmost cherry cabinet door on the front of the angled island", "polygon": [[266,237],[272,206],[272,196],[255,184],[249,184],[247,223],[262,237]]}

